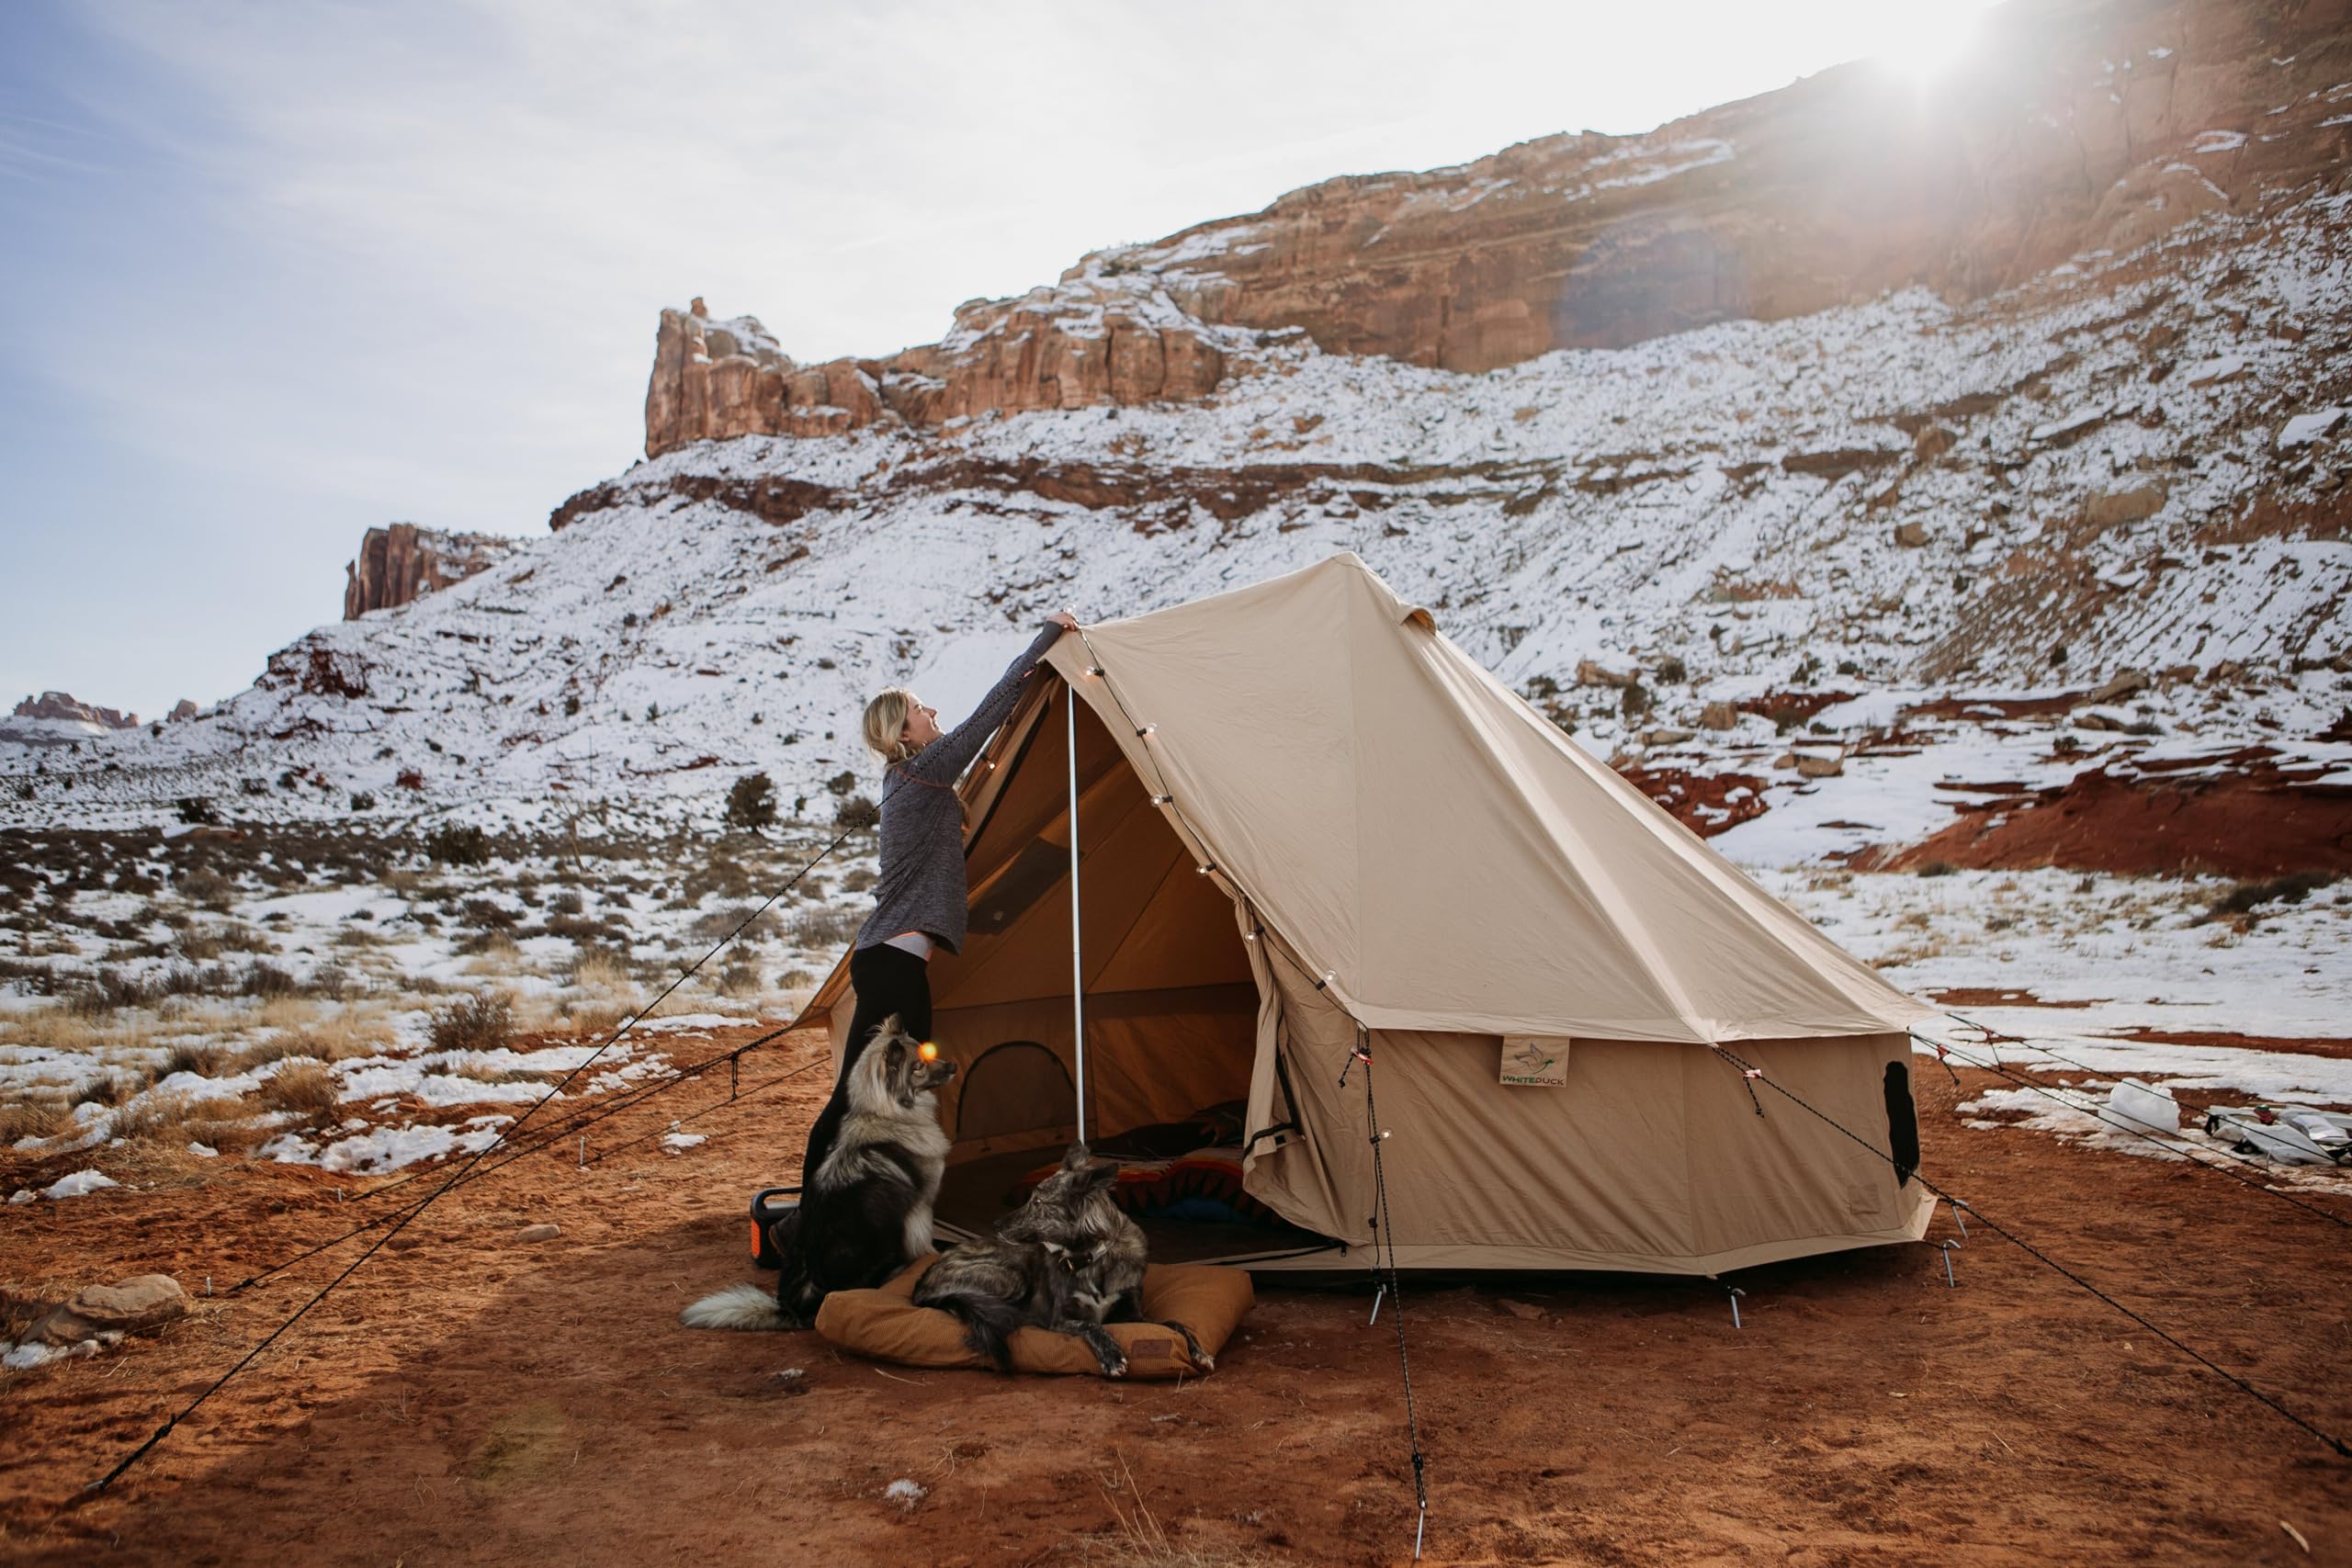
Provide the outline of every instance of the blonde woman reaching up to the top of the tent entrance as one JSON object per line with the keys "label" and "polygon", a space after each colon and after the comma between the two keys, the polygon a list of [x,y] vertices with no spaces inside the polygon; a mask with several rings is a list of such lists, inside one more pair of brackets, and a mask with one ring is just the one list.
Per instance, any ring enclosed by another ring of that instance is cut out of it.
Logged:
{"label": "blonde woman reaching up to the top of the tent entrance", "polygon": [[1044,651],[1077,621],[1056,614],[1037,639],[988,689],[971,717],[938,729],[938,710],[903,686],[866,703],[866,745],[882,757],[882,879],[875,912],[858,929],[849,952],[849,985],[858,1006],[849,1023],[849,1048],[833,1084],[833,1098],[809,1128],[809,1152],[800,1161],[802,1182],[823,1164],[840,1133],[847,1103],[842,1081],[891,1016],[915,1039],[931,1037],[931,952],[964,945],[964,809],[955,780],[988,745],[988,736],[1021,701],[1021,682]]}

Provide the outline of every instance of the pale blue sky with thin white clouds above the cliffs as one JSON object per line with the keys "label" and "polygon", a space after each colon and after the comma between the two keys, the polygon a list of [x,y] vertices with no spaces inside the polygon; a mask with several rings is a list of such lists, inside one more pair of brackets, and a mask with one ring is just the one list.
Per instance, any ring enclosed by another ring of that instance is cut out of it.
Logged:
{"label": "pale blue sky with thin white clouds above the cliffs", "polygon": [[1950,14],[12,0],[0,703],[209,703],[341,611],[369,524],[541,531],[640,454],[691,294],[889,353],[1098,244],[1936,52]]}

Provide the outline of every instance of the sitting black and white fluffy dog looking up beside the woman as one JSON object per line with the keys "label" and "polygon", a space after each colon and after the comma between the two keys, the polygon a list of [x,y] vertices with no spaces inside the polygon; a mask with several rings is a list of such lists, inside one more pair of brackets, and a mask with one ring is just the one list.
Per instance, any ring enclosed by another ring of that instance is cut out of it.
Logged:
{"label": "sitting black and white fluffy dog looking up beside the woman", "polygon": [[955,1063],[924,1053],[898,1018],[868,1041],[842,1084],[847,1114],[800,1208],[769,1227],[776,1295],[729,1286],[684,1309],[687,1328],[807,1328],[833,1291],[880,1286],[931,1251],[931,1204],[948,1166],[948,1133],[931,1093]]}

